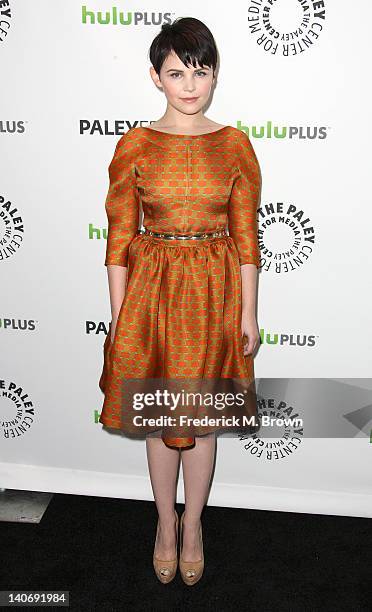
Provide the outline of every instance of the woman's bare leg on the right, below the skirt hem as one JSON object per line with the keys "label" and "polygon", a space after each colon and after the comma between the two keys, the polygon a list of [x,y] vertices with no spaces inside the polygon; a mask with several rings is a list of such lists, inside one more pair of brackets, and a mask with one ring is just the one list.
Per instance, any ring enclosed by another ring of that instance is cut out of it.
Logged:
{"label": "woman's bare leg on the right, below the skirt hem", "polygon": [[193,448],[181,451],[185,490],[182,548],[184,561],[197,561],[201,558],[200,515],[209,491],[215,450],[216,436],[212,433],[196,437]]}

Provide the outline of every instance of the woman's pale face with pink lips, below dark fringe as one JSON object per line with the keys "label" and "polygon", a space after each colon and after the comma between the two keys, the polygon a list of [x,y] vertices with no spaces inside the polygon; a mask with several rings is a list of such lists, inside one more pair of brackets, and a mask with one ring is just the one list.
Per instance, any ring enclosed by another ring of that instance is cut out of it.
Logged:
{"label": "woman's pale face with pink lips, below dark fringe", "polygon": [[[172,51],[163,62],[160,78],[151,66],[151,77],[165,93],[168,103],[182,113],[198,113],[208,102],[214,81],[208,66],[185,66]],[[190,98],[188,101],[187,98]]]}

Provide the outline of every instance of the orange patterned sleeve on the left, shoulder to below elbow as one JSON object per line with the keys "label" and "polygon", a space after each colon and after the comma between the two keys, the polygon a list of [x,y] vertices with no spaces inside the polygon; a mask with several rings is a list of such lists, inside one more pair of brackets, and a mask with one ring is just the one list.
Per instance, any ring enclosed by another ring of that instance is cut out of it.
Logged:
{"label": "orange patterned sleeve on the left, shoulder to below elbow", "polygon": [[129,245],[139,225],[139,193],[135,174],[136,145],[133,138],[124,134],[116,145],[109,166],[110,185],[105,209],[108,234],[105,266],[128,267]]}

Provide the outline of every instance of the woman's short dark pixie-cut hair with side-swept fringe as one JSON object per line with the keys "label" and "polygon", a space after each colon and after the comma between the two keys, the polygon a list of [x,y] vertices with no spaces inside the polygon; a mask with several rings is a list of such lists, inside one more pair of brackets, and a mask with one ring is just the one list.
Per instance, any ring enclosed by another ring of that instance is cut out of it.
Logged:
{"label": "woman's short dark pixie-cut hair with side-swept fringe", "polygon": [[162,25],[149,50],[150,61],[158,75],[172,51],[185,66],[208,66],[213,69],[214,76],[218,58],[216,43],[212,32],[199,19],[178,17],[173,23]]}

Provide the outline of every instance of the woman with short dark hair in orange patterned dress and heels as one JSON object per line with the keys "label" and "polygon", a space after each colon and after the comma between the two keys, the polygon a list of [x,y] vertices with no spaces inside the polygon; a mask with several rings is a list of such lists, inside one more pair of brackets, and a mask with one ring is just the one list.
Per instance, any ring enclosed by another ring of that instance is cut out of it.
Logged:
{"label": "woman with short dark hair in orange patterned dress and heels", "polygon": [[[146,433],[159,514],[154,569],[163,583],[174,578],[179,539],[181,576],[192,585],[204,568],[200,517],[215,434],[223,428],[135,425],[129,379],[146,384],[183,379],[186,387],[211,379],[254,384],[261,176],[247,135],[204,116],[217,65],[209,29],[193,18],[163,25],[150,60],[150,75],[167,99],[165,113],[151,127],[124,134],[109,168],[105,265],[112,322],[100,379],[105,393],[100,422],[126,434]],[[241,414],[257,414],[254,400],[252,392]],[[213,410],[186,404],[188,415],[206,412]],[[145,408],[144,414],[164,415],[164,405]],[[185,512],[178,537],[174,506],[180,459]]]}

